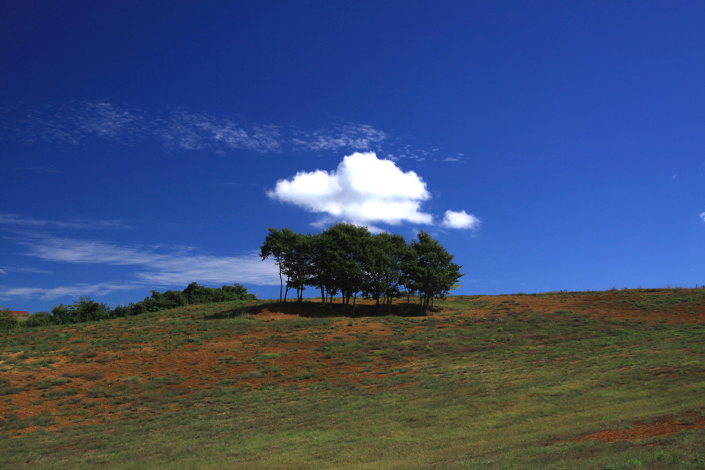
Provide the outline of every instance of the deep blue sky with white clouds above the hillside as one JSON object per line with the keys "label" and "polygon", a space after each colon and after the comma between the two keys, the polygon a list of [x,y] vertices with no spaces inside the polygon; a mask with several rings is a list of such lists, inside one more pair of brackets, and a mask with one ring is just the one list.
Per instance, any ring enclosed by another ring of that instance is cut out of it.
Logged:
{"label": "deep blue sky with white clouds above the hillside", "polygon": [[[5,1],[0,304],[239,282],[336,220],[458,294],[705,284],[705,3]],[[311,292],[311,296],[315,296]]]}

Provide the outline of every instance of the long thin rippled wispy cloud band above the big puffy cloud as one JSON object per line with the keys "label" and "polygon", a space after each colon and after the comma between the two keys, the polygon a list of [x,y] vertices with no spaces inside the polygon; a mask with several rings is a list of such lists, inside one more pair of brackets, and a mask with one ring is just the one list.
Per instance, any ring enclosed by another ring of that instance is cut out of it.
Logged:
{"label": "long thin rippled wispy cloud band above the big puffy cloud", "polygon": [[25,143],[86,145],[101,140],[132,144],[157,140],[167,150],[215,152],[234,150],[281,152],[368,152],[388,159],[424,160],[439,157],[439,149],[420,145],[409,136],[393,135],[369,123],[344,122],[302,128],[262,124],[228,116],[179,109],[149,114],[107,101],[47,105],[25,113],[23,126],[6,125],[7,133]]}

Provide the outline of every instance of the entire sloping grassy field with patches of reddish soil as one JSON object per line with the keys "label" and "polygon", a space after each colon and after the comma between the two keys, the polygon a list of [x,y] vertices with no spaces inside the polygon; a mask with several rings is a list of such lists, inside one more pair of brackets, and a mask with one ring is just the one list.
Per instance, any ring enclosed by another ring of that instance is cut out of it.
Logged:
{"label": "entire sloping grassy field with patches of reddish soil", "polygon": [[705,468],[705,291],[0,333],[0,467]]}

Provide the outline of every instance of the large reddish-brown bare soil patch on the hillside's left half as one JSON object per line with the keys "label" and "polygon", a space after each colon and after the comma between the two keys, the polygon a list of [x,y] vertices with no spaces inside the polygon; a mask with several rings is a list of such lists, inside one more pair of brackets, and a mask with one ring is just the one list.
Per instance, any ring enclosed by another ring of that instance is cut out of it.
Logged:
{"label": "large reddish-brown bare soil patch on the hillside's left half", "polygon": [[[263,308],[257,318],[281,320],[298,318],[302,316],[300,313],[317,316],[316,312],[312,315],[305,311],[303,306],[291,305],[282,310]],[[96,328],[88,325],[88,330],[92,334]],[[81,334],[85,332],[77,333]],[[360,384],[370,377],[388,375],[386,368],[391,361],[381,357],[349,363],[345,357],[324,356],[322,344],[351,340],[360,334],[368,338],[386,337],[391,334],[391,328],[361,318],[340,318],[333,320],[330,327],[281,332],[277,330],[277,322],[272,321],[253,327],[245,335],[218,337],[202,344],[182,344],[176,349],[165,350],[163,345],[154,342],[79,355],[61,356],[57,351],[31,353],[18,360],[18,365],[45,358],[54,362],[35,370],[21,367],[6,370],[4,377],[13,387],[23,390],[4,397],[8,401],[0,403],[0,419],[10,415],[31,418],[46,414],[54,418],[54,424],[42,428],[58,430],[115,421],[123,418],[127,411],[138,410],[142,416],[164,412],[173,404],[175,394],[188,397],[198,390],[221,386],[257,389],[266,385],[298,385],[305,388],[321,380]],[[6,358],[15,360],[20,354]],[[394,362],[395,368],[405,366],[403,361]],[[38,385],[56,380],[63,383]],[[145,387],[150,381],[154,381],[154,385]],[[67,391],[71,394],[66,394]],[[162,406],[161,411],[159,406]],[[21,433],[36,429],[36,426],[24,428]]]}

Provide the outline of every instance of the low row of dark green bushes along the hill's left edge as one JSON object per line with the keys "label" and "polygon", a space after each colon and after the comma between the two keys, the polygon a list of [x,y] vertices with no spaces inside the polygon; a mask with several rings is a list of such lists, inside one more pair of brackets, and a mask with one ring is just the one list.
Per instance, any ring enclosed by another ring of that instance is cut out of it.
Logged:
{"label": "low row of dark green bushes along the hill's left edge", "polygon": [[203,287],[201,284],[192,282],[183,291],[152,291],[152,296],[145,300],[130,303],[128,306],[117,306],[110,308],[106,303],[96,302],[90,297],[80,297],[78,301],[71,305],[59,305],[51,308],[49,312],[39,312],[30,315],[25,321],[18,321],[9,311],[0,311],[0,330],[11,330],[15,327],[35,327],[42,325],[66,323],[83,323],[96,320],[107,320],[109,318],[127,317],[130,315],[140,315],[145,312],[156,312],[168,308],[176,308],[187,305],[201,303],[227,302],[227,301],[250,301],[256,300],[254,294],[247,292],[247,289],[240,284],[232,286]]}

